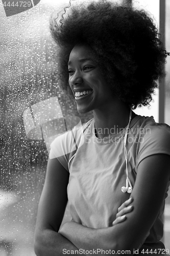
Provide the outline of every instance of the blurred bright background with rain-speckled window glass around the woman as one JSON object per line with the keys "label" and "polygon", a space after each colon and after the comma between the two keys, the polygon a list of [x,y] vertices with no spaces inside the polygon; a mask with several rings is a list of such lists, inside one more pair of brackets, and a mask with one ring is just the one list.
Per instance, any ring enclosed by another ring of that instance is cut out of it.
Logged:
{"label": "blurred bright background with rain-speckled window glass around the woman", "polygon": [[[8,17],[3,3],[0,0],[0,255],[35,256],[33,236],[48,152],[42,138],[28,139],[23,112],[57,96],[63,116],[76,115],[84,123],[92,113],[79,115],[75,102],[59,87],[57,46],[50,35],[49,19],[69,1],[41,0],[35,7]],[[151,13],[170,51],[170,1],[132,0],[129,4]],[[169,65],[167,57],[167,75],[151,107],[135,112],[170,125]],[[63,221],[69,218],[66,209]],[[165,204],[163,241],[170,250],[170,197]]]}

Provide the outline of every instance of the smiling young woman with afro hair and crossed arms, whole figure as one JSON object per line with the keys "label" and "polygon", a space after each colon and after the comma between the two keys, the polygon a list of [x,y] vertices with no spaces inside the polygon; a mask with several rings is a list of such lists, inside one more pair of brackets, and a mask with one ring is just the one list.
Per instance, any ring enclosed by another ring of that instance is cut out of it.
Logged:
{"label": "smiling young woman with afro hair and crossed arms, whole figure", "polygon": [[[51,23],[61,84],[94,118],[51,144],[36,255],[164,255],[170,127],[132,111],[149,104],[164,75],[157,28],[143,10],[109,1],[65,12]],[[67,198],[72,221],[60,227]]]}

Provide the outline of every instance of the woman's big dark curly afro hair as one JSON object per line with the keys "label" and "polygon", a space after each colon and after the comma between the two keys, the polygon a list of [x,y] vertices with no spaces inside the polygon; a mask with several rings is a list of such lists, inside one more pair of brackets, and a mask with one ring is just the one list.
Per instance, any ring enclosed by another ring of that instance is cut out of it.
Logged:
{"label": "woman's big dark curly afro hair", "polygon": [[70,5],[64,11],[50,23],[59,45],[63,89],[68,87],[70,51],[83,44],[90,48],[108,87],[120,100],[133,109],[148,105],[159,78],[164,76],[166,52],[149,14],[106,0]]}

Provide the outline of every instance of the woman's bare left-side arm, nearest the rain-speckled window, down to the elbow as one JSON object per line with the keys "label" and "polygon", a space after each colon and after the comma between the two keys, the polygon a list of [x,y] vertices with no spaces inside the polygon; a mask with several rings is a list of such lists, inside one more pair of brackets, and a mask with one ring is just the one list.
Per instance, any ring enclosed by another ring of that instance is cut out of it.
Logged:
{"label": "woman's bare left-side arm, nearest the rain-speckled window, down to the elbow", "polygon": [[37,256],[63,255],[63,249],[77,247],[58,233],[67,204],[69,173],[55,159],[49,159],[35,228],[34,249]]}

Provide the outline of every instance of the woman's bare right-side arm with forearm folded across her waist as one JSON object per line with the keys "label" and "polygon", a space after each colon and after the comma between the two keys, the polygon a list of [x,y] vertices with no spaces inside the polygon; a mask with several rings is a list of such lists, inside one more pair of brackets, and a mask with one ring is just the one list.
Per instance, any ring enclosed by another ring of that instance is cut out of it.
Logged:
{"label": "woman's bare right-side arm with forearm folded across her waist", "polygon": [[61,234],[78,248],[130,250],[133,255],[133,250],[141,246],[159,214],[169,177],[170,156],[157,154],[143,159],[138,165],[131,194],[134,209],[127,214],[125,222],[103,229],[66,223]]}

